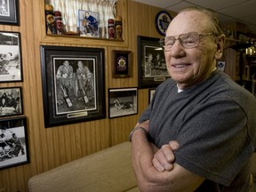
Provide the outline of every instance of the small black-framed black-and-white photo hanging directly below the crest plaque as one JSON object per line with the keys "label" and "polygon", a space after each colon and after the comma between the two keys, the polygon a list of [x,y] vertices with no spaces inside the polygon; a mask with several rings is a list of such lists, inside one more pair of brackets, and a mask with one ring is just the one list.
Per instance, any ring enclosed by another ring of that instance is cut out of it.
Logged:
{"label": "small black-framed black-and-white photo hanging directly below the crest plaque", "polygon": [[108,117],[131,116],[138,113],[138,89],[108,89]]}

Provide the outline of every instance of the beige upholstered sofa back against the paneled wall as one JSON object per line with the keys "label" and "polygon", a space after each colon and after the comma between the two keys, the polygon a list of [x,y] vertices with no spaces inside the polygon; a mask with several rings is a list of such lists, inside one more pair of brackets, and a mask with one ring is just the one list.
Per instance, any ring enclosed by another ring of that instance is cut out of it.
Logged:
{"label": "beige upholstered sofa back against the paneled wall", "polygon": [[130,142],[84,156],[28,181],[30,192],[138,192]]}

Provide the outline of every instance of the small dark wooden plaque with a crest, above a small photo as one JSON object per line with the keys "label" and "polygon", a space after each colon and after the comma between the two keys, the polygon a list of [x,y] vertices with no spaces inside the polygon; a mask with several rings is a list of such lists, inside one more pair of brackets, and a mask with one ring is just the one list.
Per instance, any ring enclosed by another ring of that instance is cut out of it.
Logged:
{"label": "small dark wooden plaque with a crest, above a small photo", "polygon": [[132,52],[113,50],[113,77],[130,77],[132,73]]}

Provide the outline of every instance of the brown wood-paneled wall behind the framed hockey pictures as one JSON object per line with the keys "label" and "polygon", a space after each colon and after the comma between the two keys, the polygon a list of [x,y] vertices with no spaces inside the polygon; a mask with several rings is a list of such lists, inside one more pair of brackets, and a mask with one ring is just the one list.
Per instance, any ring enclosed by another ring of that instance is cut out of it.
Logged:
{"label": "brown wood-paneled wall behind the framed hockey pictures", "polygon": [[[65,1],[65,0],[63,0]],[[0,171],[0,191],[28,191],[28,179],[60,164],[90,155],[103,148],[128,140],[129,132],[140,113],[148,106],[148,89],[139,90],[139,113],[108,119],[108,88],[136,87],[136,37],[159,37],[155,28],[156,13],[160,9],[131,0],[118,0],[117,14],[123,17],[124,42],[101,41],[85,38],[45,36],[44,0],[20,0],[20,26],[0,25],[3,31],[18,31],[21,36],[23,82],[0,84],[1,87],[21,86],[24,115],[28,121],[30,163]],[[170,12],[174,15],[174,12]],[[107,118],[44,128],[43,95],[41,82],[41,44],[100,47],[105,49],[105,84]],[[130,50],[133,54],[132,77],[112,78],[112,50]]]}

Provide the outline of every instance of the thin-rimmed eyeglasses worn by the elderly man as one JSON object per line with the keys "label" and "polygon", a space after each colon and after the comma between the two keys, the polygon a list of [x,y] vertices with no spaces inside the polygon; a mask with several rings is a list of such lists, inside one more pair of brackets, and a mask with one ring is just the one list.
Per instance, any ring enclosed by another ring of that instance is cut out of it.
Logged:
{"label": "thin-rimmed eyeglasses worn by the elderly man", "polygon": [[171,51],[173,44],[176,40],[180,40],[180,44],[184,48],[193,48],[196,47],[200,42],[200,36],[211,36],[213,33],[198,34],[196,32],[190,32],[185,34],[180,34],[177,38],[175,36],[165,36],[162,38],[159,43],[164,48],[165,52]]}

